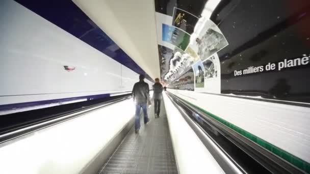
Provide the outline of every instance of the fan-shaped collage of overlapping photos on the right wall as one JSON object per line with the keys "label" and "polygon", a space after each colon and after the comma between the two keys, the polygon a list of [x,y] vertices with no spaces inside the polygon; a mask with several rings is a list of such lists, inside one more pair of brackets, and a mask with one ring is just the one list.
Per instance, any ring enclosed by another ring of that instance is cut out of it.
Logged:
{"label": "fan-shaped collage of overlapping photos on the right wall", "polygon": [[[204,89],[208,85],[205,84],[206,77],[219,77],[220,69],[216,69],[220,67],[219,61],[214,61],[218,56],[209,57],[227,46],[228,42],[214,22],[176,7],[172,17],[157,14],[156,19],[161,25],[157,28],[161,36],[158,47],[163,81],[173,82],[174,86],[183,84],[184,79],[179,80],[187,73],[192,75],[187,82],[193,82],[187,83],[193,85],[189,89]],[[190,70],[193,73],[189,73]]]}

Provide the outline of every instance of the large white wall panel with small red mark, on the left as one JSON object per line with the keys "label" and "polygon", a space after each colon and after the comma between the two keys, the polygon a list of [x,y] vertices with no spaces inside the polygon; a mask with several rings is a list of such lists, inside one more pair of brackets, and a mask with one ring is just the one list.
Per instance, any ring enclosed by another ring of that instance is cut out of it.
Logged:
{"label": "large white wall panel with small red mark, on the left", "polygon": [[0,21],[0,105],[128,91],[138,81],[132,70],[14,1],[1,2]]}

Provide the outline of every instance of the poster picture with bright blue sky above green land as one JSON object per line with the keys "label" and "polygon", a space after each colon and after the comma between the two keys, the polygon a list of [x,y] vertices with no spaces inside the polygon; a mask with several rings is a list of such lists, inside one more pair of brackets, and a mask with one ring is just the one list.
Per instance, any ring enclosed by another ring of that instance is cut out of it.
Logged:
{"label": "poster picture with bright blue sky above green land", "polygon": [[169,42],[183,51],[187,48],[190,42],[190,35],[180,30],[177,27],[162,24],[162,40]]}

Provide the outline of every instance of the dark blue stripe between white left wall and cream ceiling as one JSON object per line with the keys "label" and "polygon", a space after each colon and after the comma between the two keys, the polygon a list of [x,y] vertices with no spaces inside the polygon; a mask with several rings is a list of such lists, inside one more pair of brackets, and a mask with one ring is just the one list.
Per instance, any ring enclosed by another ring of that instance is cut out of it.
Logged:
{"label": "dark blue stripe between white left wall and cream ceiling", "polygon": [[54,23],[71,35],[110,56],[138,74],[145,74],[119,46],[112,41],[79,7],[70,0],[15,0],[17,3]]}

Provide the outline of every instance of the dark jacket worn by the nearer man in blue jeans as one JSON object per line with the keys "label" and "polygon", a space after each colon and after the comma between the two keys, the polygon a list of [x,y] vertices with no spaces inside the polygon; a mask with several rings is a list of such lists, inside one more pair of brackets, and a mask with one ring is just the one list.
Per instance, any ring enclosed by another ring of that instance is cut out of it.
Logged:
{"label": "dark jacket worn by the nearer man in blue jeans", "polygon": [[132,96],[136,104],[144,104],[149,101],[148,84],[144,81],[135,83]]}

